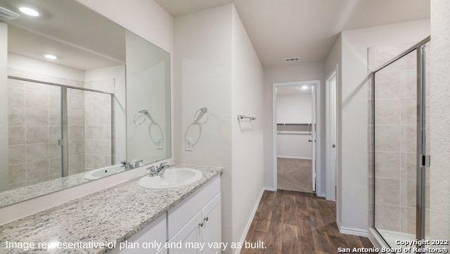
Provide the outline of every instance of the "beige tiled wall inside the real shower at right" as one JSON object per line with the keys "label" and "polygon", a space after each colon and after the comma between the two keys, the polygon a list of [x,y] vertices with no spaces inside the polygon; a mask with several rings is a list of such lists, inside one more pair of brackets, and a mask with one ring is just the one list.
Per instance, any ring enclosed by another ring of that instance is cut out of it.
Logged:
{"label": "beige tiled wall inside the real shower at right", "polygon": [[[369,69],[380,67],[406,48],[409,45],[369,48]],[[407,234],[416,233],[416,61],[413,52],[375,74],[375,193],[372,160],[368,174],[369,225],[373,225],[375,194],[375,227]],[[369,116],[373,115],[371,99],[370,93]],[[372,159],[371,118],[368,131]]]}

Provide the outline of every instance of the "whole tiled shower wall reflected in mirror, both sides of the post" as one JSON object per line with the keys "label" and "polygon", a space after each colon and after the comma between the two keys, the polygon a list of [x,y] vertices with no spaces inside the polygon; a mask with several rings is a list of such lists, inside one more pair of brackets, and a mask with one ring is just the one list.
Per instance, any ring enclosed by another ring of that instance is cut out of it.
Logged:
{"label": "whole tiled shower wall reflected in mirror, both sides of the post", "polygon": [[[115,88],[114,79],[65,81],[109,93]],[[8,189],[60,178],[60,100],[58,86],[8,79]],[[112,113],[110,95],[68,88],[69,175],[111,165]]]}

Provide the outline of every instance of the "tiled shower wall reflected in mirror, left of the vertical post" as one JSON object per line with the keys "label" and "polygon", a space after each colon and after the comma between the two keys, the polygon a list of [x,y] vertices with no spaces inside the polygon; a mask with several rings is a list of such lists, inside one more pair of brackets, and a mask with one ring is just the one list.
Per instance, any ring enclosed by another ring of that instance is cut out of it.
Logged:
{"label": "tiled shower wall reflected in mirror, left of the vertical post", "polygon": [[60,88],[8,79],[8,188],[60,177]]}

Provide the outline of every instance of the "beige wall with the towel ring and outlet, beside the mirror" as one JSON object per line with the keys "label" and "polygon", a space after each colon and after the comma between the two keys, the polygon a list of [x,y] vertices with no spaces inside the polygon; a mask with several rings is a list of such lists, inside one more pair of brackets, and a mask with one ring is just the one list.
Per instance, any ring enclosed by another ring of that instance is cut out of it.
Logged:
{"label": "beige wall with the towel ring and outlet, beside the mirror", "polygon": [[[174,21],[174,161],[221,166],[222,240],[231,241],[231,4],[181,15]],[[207,107],[209,119],[193,124]],[[193,138],[193,151],[185,150]]]}

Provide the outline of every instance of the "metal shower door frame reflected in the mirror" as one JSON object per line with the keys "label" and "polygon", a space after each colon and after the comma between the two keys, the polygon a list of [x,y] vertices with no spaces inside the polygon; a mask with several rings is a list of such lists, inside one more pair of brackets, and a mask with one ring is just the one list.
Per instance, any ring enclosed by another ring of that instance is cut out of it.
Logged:
{"label": "metal shower door frame reflected in the mirror", "polygon": [[81,88],[77,86],[68,86],[63,85],[60,83],[53,83],[48,81],[39,81],[37,79],[28,79],[21,76],[13,76],[8,75],[8,79],[15,79],[20,81],[27,81],[32,83],[41,83],[44,85],[49,86],[58,86],[60,87],[60,93],[61,93],[61,135],[60,140],[58,140],[58,145],[61,147],[61,178],[64,178],[69,175],[69,139],[68,139],[68,88],[69,89],[75,89],[75,90],[81,90],[86,92],[93,92],[93,93],[103,93],[110,95],[111,97],[111,165],[114,165],[115,163],[115,124],[114,124],[114,93],[108,93],[105,91],[99,91],[96,89],[91,88]]}

